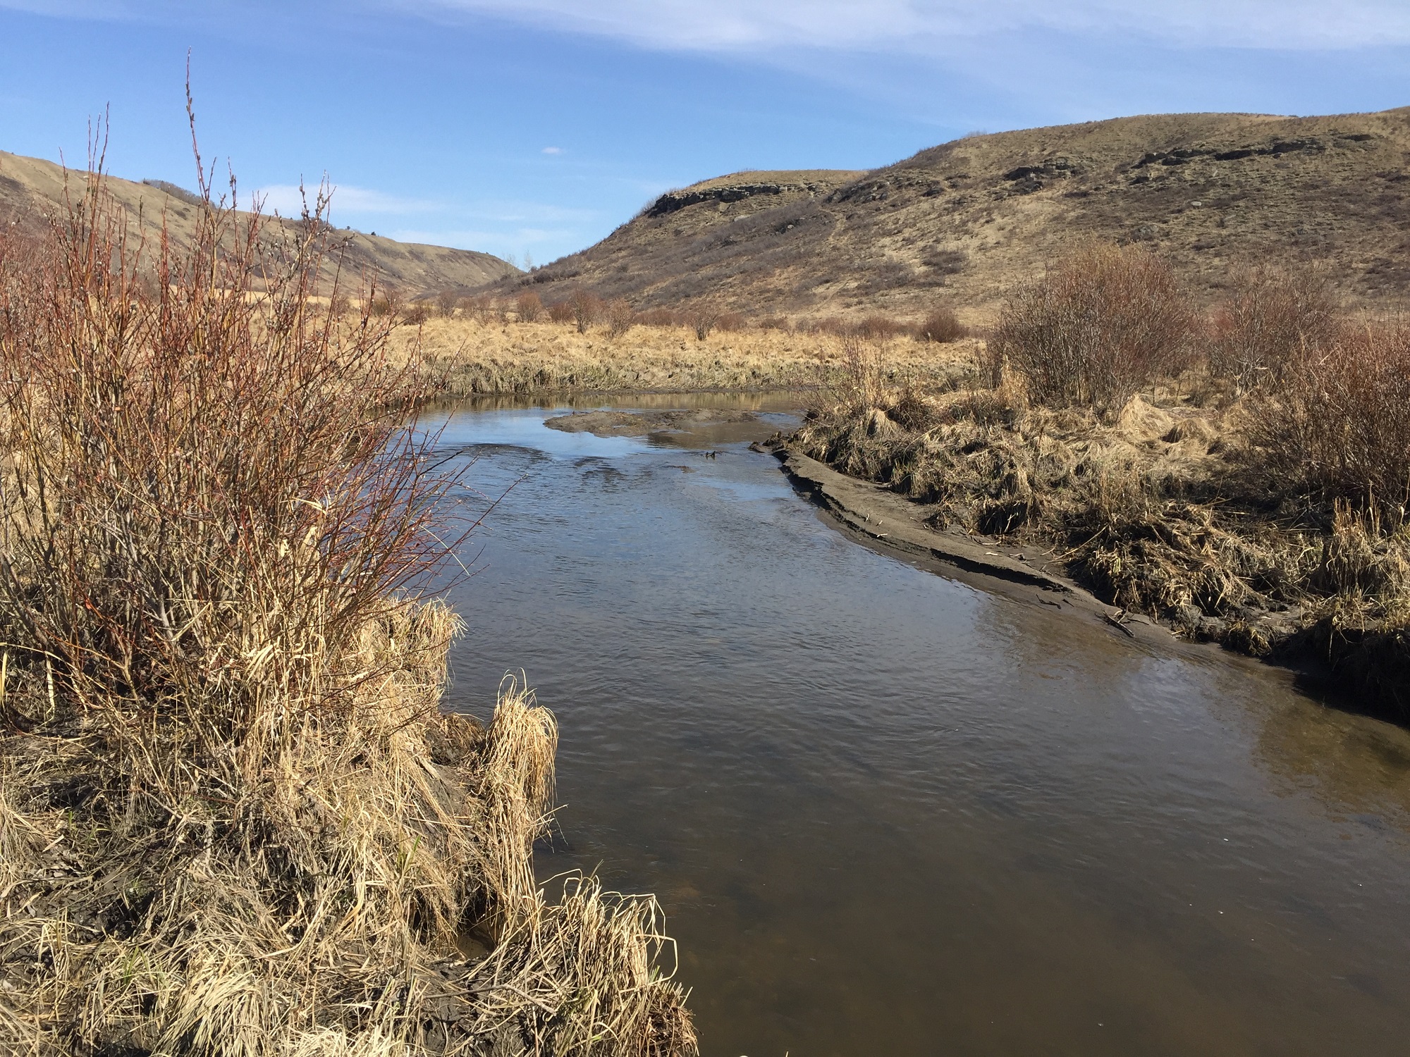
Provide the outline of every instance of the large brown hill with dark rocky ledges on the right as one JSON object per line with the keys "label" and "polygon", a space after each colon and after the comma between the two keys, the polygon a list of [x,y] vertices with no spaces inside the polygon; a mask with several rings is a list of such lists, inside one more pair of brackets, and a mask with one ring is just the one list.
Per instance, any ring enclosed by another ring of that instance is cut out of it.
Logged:
{"label": "large brown hill with dark rocky ledges on the right", "polygon": [[1125,117],[966,137],[871,172],[742,172],[668,192],[501,289],[986,319],[1081,238],[1151,245],[1207,297],[1231,262],[1292,259],[1324,268],[1348,307],[1410,307],[1410,107]]}

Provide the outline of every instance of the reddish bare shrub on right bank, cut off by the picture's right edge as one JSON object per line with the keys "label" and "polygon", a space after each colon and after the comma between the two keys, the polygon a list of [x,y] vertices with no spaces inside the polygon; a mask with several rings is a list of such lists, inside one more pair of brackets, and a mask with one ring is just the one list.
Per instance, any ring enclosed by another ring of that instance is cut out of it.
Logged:
{"label": "reddish bare shrub on right bank, cut off by the picture's right edge", "polygon": [[1410,507],[1410,326],[1348,330],[1294,357],[1251,404],[1261,471],[1389,514]]}

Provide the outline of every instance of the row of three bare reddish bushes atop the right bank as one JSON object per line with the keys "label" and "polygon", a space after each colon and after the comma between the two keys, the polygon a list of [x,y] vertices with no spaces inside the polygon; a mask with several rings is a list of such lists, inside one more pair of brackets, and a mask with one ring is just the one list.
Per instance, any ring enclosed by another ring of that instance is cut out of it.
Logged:
{"label": "row of three bare reddish bushes atop the right bank", "polygon": [[1340,319],[1314,273],[1239,271],[1201,320],[1169,266],[1138,247],[1080,249],[1005,300],[984,373],[1028,396],[1115,414],[1138,390],[1203,366],[1249,417],[1269,489],[1410,507],[1410,327]]}

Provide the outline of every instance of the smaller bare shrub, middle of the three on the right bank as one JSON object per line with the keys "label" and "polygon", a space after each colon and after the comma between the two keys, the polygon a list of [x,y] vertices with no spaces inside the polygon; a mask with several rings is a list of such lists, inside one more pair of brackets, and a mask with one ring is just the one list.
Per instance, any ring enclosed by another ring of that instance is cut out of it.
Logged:
{"label": "smaller bare shrub, middle of the three on the right bank", "polygon": [[1214,317],[1210,371],[1239,390],[1272,381],[1299,355],[1327,345],[1337,316],[1327,285],[1307,272],[1261,265],[1234,279]]}

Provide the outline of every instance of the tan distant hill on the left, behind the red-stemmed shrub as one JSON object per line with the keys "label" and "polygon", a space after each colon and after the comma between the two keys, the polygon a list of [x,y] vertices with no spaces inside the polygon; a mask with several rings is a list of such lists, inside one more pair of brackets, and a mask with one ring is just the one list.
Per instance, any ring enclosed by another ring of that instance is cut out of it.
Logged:
{"label": "tan distant hill on the left, behind the red-stemmed shrub", "polygon": [[[86,173],[70,172],[75,193],[82,192]],[[106,187],[130,217],[140,216],[148,235],[162,220],[168,237],[185,245],[195,231],[200,199],[164,180],[133,183],[106,178]],[[63,169],[54,162],[24,158],[0,151],[0,220],[39,227],[45,216],[63,207]],[[472,249],[448,249],[439,245],[398,242],[360,231],[338,231],[336,245],[343,252],[343,271],[348,292],[354,292],[365,272],[378,286],[395,289],[406,297],[439,293],[447,289],[470,290],[519,275],[519,269],[491,254]]]}

